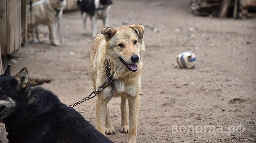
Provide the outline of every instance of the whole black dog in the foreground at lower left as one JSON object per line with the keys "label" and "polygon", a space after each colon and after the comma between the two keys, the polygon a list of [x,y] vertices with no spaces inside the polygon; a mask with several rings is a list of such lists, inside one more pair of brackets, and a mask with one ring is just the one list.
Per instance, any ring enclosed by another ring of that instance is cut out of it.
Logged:
{"label": "whole black dog in the foreground at lower left", "polygon": [[112,143],[52,92],[31,88],[26,68],[14,77],[9,69],[0,76],[0,121],[9,143]]}

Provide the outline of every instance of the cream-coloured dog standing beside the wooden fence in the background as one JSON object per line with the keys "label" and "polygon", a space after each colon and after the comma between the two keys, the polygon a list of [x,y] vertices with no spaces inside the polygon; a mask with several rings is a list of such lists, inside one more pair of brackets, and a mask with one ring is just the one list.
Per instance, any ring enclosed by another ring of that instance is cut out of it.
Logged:
{"label": "cream-coloured dog standing beside the wooden fence in the background", "polygon": [[[51,44],[61,45],[57,40],[56,29],[66,3],[66,0],[39,0],[33,3],[32,7],[29,6],[27,9],[28,29],[34,31],[39,24],[47,25]],[[30,10],[30,8],[32,9]],[[39,40],[38,36],[37,39]]]}

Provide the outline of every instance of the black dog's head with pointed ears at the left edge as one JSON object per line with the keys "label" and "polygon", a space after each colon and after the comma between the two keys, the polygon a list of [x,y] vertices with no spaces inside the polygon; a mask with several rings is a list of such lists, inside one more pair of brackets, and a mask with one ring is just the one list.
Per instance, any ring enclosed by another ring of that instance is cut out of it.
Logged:
{"label": "black dog's head with pointed ears at the left edge", "polygon": [[0,75],[0,122],[22,110],[28,98],[28,70],[24,67],[12,77],[10,66]]}

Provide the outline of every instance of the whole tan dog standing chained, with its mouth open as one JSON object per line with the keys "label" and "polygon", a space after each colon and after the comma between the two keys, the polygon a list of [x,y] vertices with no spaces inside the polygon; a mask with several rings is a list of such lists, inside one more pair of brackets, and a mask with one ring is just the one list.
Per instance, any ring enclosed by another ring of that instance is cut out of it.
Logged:
{"label": "whole tan dog standing chained, with its mouth open", "polygon": [[[128,143],[136,143],[137,136],[141,69],[143,67],[141,57],[145,51],[143,33],[142,25],[127,25],[115,29],[104,27],[101,29],[103,35],[98,34],[95,37],[90,53],[90,72],[95,89],[108,80],[107,61],[111,67],[111,74],[115,79],[114,97],[121,97],[121,132],[129,132]],[[97,96],[97,130],[102,134],[115,134],[106,103],[109,96],[111,96],[111,86],[106,87]]]}

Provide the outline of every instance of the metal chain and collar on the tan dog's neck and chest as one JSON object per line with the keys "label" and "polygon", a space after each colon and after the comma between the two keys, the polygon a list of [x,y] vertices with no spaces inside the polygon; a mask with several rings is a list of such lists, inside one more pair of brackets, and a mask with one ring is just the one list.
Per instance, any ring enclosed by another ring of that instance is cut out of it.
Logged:
{"label": "metal chain and collar on the tan dog's neck and chest", "polygon": [[107,61],[106,74],[108,76],[108,80],[105,81],[97,90],[94,90],[91,94],[89,94],[87,97],[83,98],[81,101],[78,101],[74,104],[69,105],[69,108],[74,108],[76,105],[81,104],[81,103],[85,102],[86,100],[90,100],[90,99],[94,98],[98,93],[102,92],[103,89],[108,87],[108,85],[111,85],[111,96],[106,101],[106,103],[108,103],[108,101],[111,99],[111,97],[113,96],[113,94],[115,92],[114,87],[113,87],[114,78],[111,75],[110,71],[111,71],[111,69],[110,69],[110,66]]}

